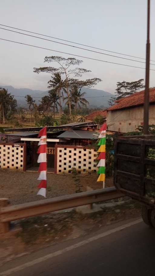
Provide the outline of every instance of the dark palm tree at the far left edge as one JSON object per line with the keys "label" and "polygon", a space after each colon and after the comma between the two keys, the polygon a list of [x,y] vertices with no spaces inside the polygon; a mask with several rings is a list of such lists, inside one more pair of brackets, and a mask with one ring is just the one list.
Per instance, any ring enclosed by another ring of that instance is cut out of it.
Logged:
{"label": "dark palm tree at the far left edge", "polygon": [[3,124],[5,124],[6,115],[10,109],[13,96],[8,93],[8,89],[0,88],[0,114],[3,118]]}

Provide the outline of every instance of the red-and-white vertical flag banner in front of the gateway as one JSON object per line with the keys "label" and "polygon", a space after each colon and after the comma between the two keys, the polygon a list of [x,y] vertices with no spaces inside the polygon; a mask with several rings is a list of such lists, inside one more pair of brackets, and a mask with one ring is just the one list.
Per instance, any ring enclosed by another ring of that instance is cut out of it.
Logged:
{"label": "red-and-white vertical flag banner in front of the gateway", "polygon": [[38,172],[40,172],[39,174],[39,177],[37,180],[41,180],[39,185],[38,185],[38,188],[41,188],[39,191],[38,191],[38,194],[43,196],[43,197],[46,197],[46,181],[47,181],[47,177],[46,177],[46,174],[47,174],[47,133],[46,133],[46,126],[44,128],[42,128],[40,131],[39,131],[39,134],[38,134],[38,137],[40,137],[40,141],[38,143],[38,151],[37,153],[39,153],[39,156],[38,156],[38,160],[37,162],[40,163],[39,165],[39,169],[38,169]]}

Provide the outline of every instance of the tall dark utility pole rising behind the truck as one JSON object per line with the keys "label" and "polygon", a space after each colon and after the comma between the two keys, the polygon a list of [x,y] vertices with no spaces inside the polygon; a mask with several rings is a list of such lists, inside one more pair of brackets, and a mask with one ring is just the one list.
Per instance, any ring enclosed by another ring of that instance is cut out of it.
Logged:
{"label": "tall dark utility pole rising behind the truck", "polygon": [[150,0],[147,0],[147,45],[146,45],[146,71],[144,94],[144,134],[148,135],[149,128],[149,75],[150,75]]}

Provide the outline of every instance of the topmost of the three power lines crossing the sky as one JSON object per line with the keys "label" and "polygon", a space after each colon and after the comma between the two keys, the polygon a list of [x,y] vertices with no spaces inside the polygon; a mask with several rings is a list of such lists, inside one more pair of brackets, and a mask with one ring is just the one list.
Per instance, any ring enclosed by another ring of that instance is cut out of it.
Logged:
{"label": "topmost of the three power lines crossing the sky", "polygon": [[[141,57],[131,56],[131,55],[128,55],[128,54],[122,54],[122,53],[119,53],[119,52],[113,52],[113,51],[109,51],[109,50],[105,50],[105,49],[93,47],[93,46],[90,46],[90,45],[85,45],[85,44],[81,44],[81,43],[69,41],[69,40],[66,40],[66,39],[60,39],[60,38],[58,38],[58,37],[53,37],[53,36],[50,36],[50,35],[43,35],[43,34],[39,34],[39,33],[37,33],[37,32],[31,32],[31,31],[27,31],[27,30],[15,28],[15,27],[3,25],[3,24],[0,24],[0,25],[1,25],[1,26],[4,26],[4,27],[16,29],[16,30],[19,30],[19,31],[29,32],[29,33],[32,33],[32,34],[35,34],[35,35],[42,35],[42,36],[50,37],[50,38],[53,38],[53,39],[58,39],[58,40],[62,40],[62,41],[65,41],[65,42],[70,42],[70,43],[74,43],[74,44],[77,44],[77,45],[86,46],[86,47],[93,48],[93,49],[97,49],[97,50],[101,50],[101,51],[106,51],[106,52],[110,52],[110,53],[114,53],[114,54],[118,54],[118,55],[123,55],[123,56],[130,56],[130,57],[133,57],[133,58],[136,58],[136,59],[144,59],[144,58],[141,58]],[[146,59],[144,59],[144,60],[146,60]],[[155,62],[155,60],[150,60],[150,61]]]}

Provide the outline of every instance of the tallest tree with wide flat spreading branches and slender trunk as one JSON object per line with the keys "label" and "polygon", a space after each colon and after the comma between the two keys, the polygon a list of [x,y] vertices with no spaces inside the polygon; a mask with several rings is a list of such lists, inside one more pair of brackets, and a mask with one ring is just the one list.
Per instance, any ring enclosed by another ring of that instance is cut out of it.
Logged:
{"label": "tallest tree with wide flat spreading branches and slender trunk", "polygon": [[[56,62],[58,64],[58,68],[56,67],[40,67],[34,68],[35,73],[47,72],[54,76],[54,73],[60,73],[64,76],[64,87],[66,89],[67,97],[68,97],[68,105],[69,105],[69,113],[71,116],[71,100],[70,100],[70,81],[76,77],[82,77],[84,73],[91,72],[90,70],[79,68],[79,66],[83,61],[75,58],[63,58],[61,56],[46,56],[44,62]],[[100,82],[101,79],[94,78],[85,81],[85,86],[92,87]]]}

